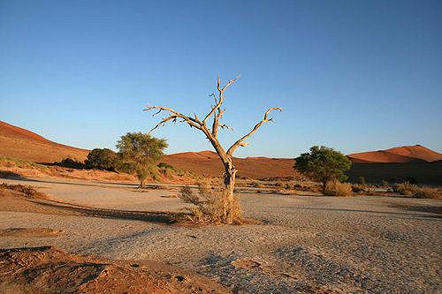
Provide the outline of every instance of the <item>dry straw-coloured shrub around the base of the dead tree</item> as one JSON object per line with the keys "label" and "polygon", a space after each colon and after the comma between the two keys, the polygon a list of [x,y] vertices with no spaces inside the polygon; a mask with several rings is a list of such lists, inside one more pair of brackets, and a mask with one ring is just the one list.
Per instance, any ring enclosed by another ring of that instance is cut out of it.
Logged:
{"label": "dry straw-coloured shrub around the base of the dead tree", "polygon": [[189,214],[187,221],[199,224],[223,223],[225,207],[232,207],[232,220],[234,224],[241,224],[240,197],[234,194],[233,203],[225,203],[225,191],[222,188],[215,188],[208,181],[197,183],[197,191],[194,192],[189,186],[181,188],[179,198],[186,203],[192,204],[187,207]]}

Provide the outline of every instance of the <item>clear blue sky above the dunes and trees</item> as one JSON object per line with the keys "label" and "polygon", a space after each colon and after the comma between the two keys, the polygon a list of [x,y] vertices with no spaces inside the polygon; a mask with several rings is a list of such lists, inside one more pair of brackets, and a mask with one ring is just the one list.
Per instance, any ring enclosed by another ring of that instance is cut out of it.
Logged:
{"label": "clear blue sky above the dunes and trees", "polygon": [[[239,156],[422,144],[442,151],[442,1],[0,1],[0,120],[75,147],[202,115],[217,74]],[[168,126],[167,152],[210,149]]]}

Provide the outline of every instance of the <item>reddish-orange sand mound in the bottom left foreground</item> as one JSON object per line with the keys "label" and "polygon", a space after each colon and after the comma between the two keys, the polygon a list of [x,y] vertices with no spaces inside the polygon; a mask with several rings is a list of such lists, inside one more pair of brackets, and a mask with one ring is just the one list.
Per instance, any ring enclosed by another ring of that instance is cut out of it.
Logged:
{"label": "reddish-orange sand mound in the bottom left foreground", "polygon": [[155,261],[106,260],[41,246],[0,249],[0,293],[225,294],[232,290]]}

